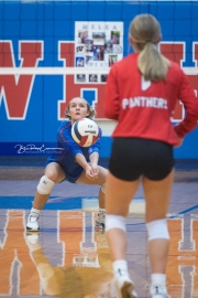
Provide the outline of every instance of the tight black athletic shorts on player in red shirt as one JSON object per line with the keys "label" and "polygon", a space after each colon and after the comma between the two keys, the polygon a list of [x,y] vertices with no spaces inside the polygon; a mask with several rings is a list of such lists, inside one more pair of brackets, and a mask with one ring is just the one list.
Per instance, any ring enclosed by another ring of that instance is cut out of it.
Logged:
{"label": "tight black athletic shorts on player in red shirt", "polygon": [[109,171],[117,178],[133,181],[144,175],[164,179],[174,167],[173,146],[141,138],[114,138]]}

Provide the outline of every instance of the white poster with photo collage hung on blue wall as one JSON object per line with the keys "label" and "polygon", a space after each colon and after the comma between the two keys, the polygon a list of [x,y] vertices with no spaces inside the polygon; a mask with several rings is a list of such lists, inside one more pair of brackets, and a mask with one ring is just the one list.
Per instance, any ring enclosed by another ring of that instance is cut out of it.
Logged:
{"label": "white poster with photo collage hung on blue wall", "polygon": [[123,22],[75,22],[75,67],[87,67],[75,83],[106,83],[107,74],[92,68],[111,67],[123,57]]}

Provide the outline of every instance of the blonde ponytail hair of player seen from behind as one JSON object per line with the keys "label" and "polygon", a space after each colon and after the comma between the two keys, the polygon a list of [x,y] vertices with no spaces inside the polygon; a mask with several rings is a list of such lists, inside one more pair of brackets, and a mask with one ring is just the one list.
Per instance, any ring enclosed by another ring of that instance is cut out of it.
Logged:
{"label": "blonde ponytail hair of player seen from behind", "polygon": [[168,60],[157,49],[161,40],[161,25],[151,14],[136,15],[129,30],[129,36],[140,52],[138,67],[146,81],[166,81]]}

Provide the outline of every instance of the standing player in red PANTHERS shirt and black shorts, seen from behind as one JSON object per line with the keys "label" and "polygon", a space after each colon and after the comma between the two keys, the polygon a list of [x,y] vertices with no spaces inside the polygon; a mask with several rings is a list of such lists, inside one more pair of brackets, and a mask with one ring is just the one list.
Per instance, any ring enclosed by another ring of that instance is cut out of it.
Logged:
{"label": "standing player in red PANTHERS shirt and black shorts, seen from behind", "polygon": [[[180,146],[198,120],[198,100],[179,65],[157,49],[161,25],[151,14],[131,22],[129,40],[135,53],[116,63],[108,76],[105,113],[118,120],[112,134],[106,192],[106,231],[120,296],[138,297],[128,272],[125,217],[140,180],[146,200],[152,298],[169,298],[166,262],[169,246],[166,214],[174,179],[173,147]],[[186,109],[174,127],[176,102]]]}

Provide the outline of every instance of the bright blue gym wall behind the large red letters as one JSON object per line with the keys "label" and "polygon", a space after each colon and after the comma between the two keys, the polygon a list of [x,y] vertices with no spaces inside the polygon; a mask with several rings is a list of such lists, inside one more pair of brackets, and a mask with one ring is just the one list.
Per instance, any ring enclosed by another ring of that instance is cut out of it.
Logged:
{"label": "bright blue gym wall behind the large red letters", "polygon": [[[64,66],[63,61],[58,60],[58,42],[75,40],[75,21],[114,21],[123,22],[123,55],[127,55],[130,21],[144,12],[160,20],[164,42],[185,43],[182,66],[195,67],[193,43],[198,42],[196,1],[0,1],[0,41],[12,44],[15,66],[21,63],[19,42],[24,41],[43,43],[43,56],[37,67]],[[0,63],[2,66],[3,62]],[[52,146],[61,123],[57,107],[58,100],[64,97],[63,76],[35,76],[23,119],[9,119],[0,77],[0,156],[18,156],[16,143]],[[18,88],[12,91],[10,100],[15,99],[16,93]],[[110,136],[102,137],[101,157],[108,158],[110,148]],[[198,159],[198,129],[186,137],[183,147],[175,149],[175,157]]]}

